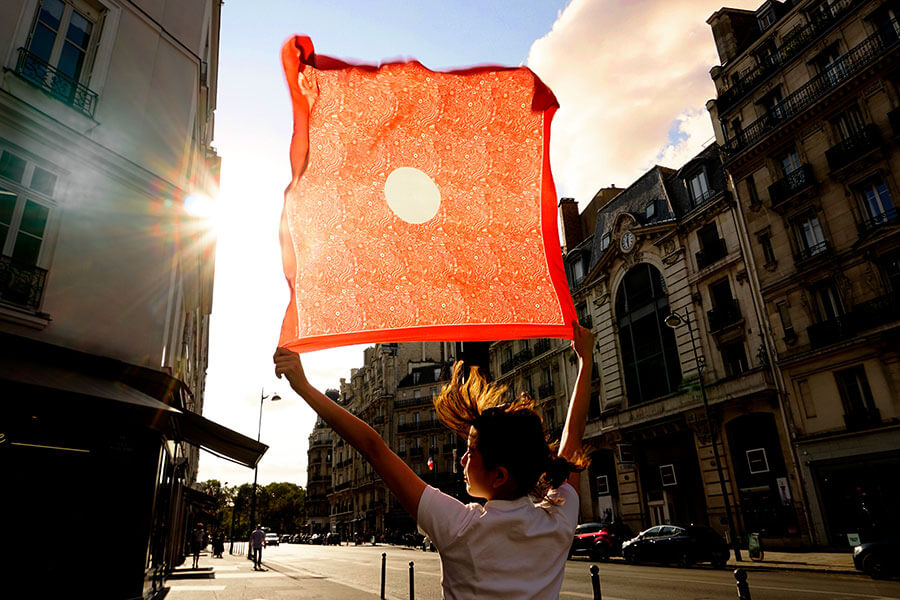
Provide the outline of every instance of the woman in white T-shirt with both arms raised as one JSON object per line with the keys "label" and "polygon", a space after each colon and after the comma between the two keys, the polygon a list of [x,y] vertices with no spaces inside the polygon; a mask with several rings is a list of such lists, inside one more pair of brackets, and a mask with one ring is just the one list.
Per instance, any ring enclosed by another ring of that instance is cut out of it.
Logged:
{"label": "woman in white T-shirt with both arms raised", "polygon": [[463,504],[427,485],[366,423],[316,390],[300,357],[275,352],[275,374],[372,463],[441,556],[443,597],[558,598],[578,521],[582,438],[590,401],[593,334],[573,323],[578,376],[559,444],[549,444],[534,401],[508,401],[462,363],[434,399],[438,418],[467,438],[466,489],[486,500]]}

